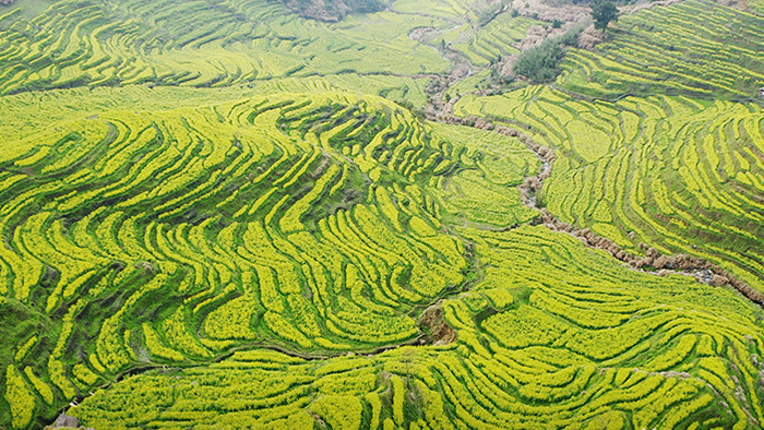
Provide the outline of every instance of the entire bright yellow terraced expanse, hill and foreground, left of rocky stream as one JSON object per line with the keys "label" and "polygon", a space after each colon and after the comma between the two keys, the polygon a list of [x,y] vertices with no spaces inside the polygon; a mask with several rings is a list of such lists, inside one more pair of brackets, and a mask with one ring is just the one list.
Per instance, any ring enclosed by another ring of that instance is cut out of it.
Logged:
{"label": "entire bright yellow terraced expanse, hill and foreground, left of rocky stream", "polygon": [[[2,159],[14,427],[135,367],[158,370],[69,413],[97,428],[762,419],[761,309],[541,226],[490,232],[535,216],[513,186],[538,165],[516,140],[348,93],[112,110],[33,138]],[[345,355],[427,333],[457,341]]]}

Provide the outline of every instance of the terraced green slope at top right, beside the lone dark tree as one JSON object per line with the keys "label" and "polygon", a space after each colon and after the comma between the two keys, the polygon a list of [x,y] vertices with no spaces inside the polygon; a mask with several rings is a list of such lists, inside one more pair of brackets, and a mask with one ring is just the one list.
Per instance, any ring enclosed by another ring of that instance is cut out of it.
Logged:
{"label": "terraced green slope at top right, beside the lone dark tree", "polygon": [[560,84],[610,99],[658,93],[751,100],[764,81],[764,17],[753,12],[690,0],[622,16],[612,40],[565,56]]}

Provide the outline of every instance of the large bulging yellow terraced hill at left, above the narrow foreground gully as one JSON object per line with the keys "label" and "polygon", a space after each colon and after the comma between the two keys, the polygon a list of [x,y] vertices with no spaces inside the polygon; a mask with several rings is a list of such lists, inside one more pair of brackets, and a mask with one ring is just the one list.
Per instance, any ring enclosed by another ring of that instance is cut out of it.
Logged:
{"label": "large bulging yellow terraced hill at left, above the narrow foreground gully", "polygon": [[[415,339],[421,308],[470,276],[439,202],[526,222],[513,186],[537,163],[516,140],[349,93],[53,124],[0,159],[3,326],[50,324],[12,330],[9,372],[41,378],[46,410],[142,362]],[[28,393],[5,396],[12,411]]]}

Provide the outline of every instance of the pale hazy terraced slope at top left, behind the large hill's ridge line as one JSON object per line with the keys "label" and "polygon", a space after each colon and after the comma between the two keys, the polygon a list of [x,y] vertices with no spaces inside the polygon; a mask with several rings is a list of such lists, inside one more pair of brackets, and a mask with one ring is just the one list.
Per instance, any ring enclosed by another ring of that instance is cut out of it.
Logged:
{"label": "pale hazy terraced slope at top left, behind the large hill's ridge line", "polygon": [[[0,94],[72,86],[226,86],[289,75],[445,70],[411,28],[434,19],[379,13],[334,26],[266,1],[60,1],[0,16]],[[204,23],[203,25],[192,23]],[[369,37],[369,35],[374,35]]]}

